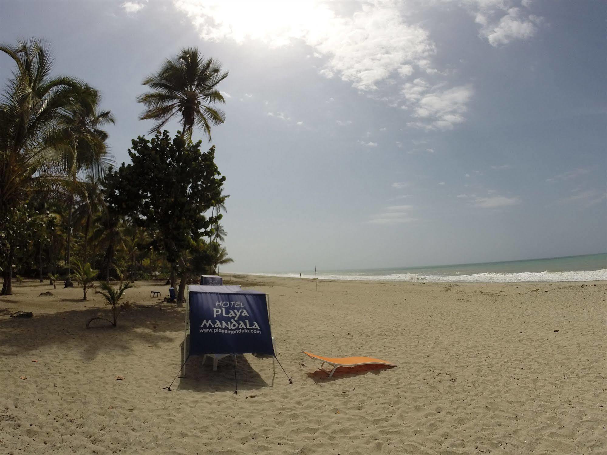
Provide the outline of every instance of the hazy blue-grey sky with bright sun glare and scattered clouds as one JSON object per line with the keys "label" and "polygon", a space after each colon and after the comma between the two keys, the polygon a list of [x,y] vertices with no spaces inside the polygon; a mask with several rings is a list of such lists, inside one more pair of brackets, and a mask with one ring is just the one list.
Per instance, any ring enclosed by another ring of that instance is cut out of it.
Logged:
{"label": "hazy blue-grey sky with bright sun glare and scattered clouds", "polygon": [[607,251],[606,22],[602,1],[0,2],[0,42],[46,39],[101,90],[117,164],[164,59],[229,70],[203,146],[234,272]]}

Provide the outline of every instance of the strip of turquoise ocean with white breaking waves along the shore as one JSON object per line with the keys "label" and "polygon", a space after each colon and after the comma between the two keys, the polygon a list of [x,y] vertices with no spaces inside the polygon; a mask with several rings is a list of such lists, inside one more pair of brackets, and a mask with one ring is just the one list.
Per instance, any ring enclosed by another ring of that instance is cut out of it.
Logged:
{"label": "strip of turquoise ocean with white breaking waves along the shore", "polygon": [[[297,273],[259,273],[299,278]],[[607,253],[523,261],[487,262],[397,269],[317,270],[319,280],[439,281],[469,283],[515,283],[520,281],[607,280]],[[314,278],[314,271],[302,271]]]}

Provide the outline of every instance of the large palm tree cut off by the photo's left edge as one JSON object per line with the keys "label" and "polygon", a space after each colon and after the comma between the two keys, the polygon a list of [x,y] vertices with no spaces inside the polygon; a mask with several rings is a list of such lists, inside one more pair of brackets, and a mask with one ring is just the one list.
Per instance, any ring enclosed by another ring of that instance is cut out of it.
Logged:
{"label": "large palm tree cut off by the photo's left edge", "polygon": [[[35,190],[61,190],[64,175],[57,172],[58,157],[46,140],[59,117],[83,96],[83,83],[50,77],[52,59],[39,40],[0,44],[0,51],[16,64],[0,99],[0,213],[9,213]],[[7,243],[6,265],[11,265]],[[11,280],[12,267],[4,267],[0,294],[12,294]]]}

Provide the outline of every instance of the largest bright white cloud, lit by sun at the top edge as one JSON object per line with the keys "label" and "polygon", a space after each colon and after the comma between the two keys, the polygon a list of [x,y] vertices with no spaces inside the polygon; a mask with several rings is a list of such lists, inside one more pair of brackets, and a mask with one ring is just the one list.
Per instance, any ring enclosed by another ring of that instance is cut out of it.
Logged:
{"label": "largest bright white cloud, lit by sun at the top edge", "polygon": [[363,2],[347,15],[321,1],[239,2],[235,8],[225,0],[175,0],[174,5],[207,41],[253,39],[270,47],[303,41],[324,57],[322,75],[339,76],[363,91],[377,90],[395,73],[409,76],[435,53],[429,33],[408,24],[398,2]]}

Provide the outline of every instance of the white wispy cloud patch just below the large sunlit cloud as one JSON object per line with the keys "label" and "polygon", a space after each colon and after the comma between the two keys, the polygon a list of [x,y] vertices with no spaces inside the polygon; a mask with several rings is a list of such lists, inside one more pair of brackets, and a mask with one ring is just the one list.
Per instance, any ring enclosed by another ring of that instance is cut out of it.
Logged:
{"label": "white wispy cloud patch just below the large sunlit cloud", "polygon": [[413,117],[418,120],[407,126],[426,130],[450,130],[465,118],[467,103],[472,98],[472,86],[459,86],[441,90],[430,87],[423,79],[415,79],[402,87],[401,93],[413,108]]}

